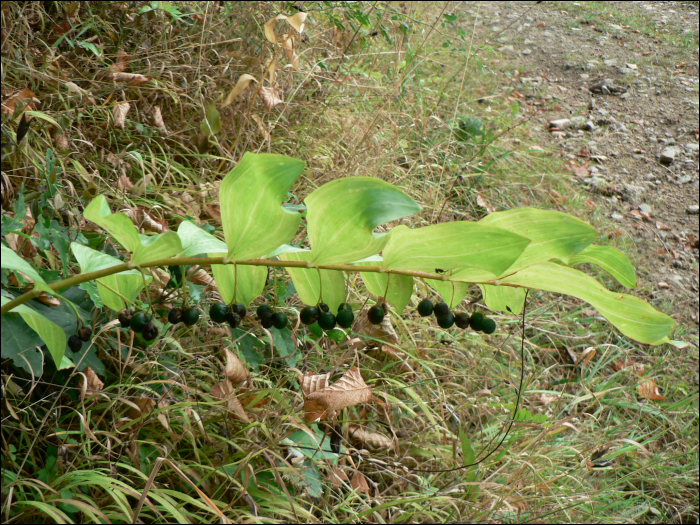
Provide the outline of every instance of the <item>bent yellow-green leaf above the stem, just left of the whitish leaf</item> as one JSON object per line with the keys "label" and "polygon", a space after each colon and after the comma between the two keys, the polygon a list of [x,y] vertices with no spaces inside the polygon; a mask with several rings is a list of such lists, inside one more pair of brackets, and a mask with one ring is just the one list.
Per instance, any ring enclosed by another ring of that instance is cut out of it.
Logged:
{"label": "bent yellow-green leaf above the stem, just left of the whitish leaf", "polygon": [[160,235],[140,235],[134,223],[124,213],[112,213],[104,195],[98,195],[85,208],[83,216],[107,230],[124,248],[131,252],[133,264],[144,264],[171,257],[182,251],[180,237],[175,232]]}

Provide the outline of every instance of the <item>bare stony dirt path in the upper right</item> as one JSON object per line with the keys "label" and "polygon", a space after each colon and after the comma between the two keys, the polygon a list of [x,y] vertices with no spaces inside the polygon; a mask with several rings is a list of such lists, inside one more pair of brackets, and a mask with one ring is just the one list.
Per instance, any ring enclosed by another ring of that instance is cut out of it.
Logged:
{"label": "bare stony dirt path in the upper right", "polygon": [[523,96],[555,104],[534,126],[538,142],[558,149],[571,168],[563,176],[628,246],[635,293],[697,333],[697,2],[464,9],[462,27],[475,28],[502,54],[497,67],[515,73],[504,87],[518,83]]}

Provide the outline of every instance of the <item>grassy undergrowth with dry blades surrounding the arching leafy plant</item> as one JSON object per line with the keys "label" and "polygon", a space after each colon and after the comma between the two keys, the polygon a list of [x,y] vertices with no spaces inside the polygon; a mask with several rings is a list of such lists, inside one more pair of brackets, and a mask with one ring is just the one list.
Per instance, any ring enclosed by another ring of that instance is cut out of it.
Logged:
{"label": "grassy undergrowth with dry blades surrounding the arching leafy plant", "polygon": [[[535,72],[504,61],[467,12],[477,7],[296,5],[309,17],[298,68],[264,35],[278,13],[297,12],[291,3],[4,4],[7,140],[23,110],[34,118],[24,141],[3,145],[3,242],[57,280],[76,271],[62,238],[99,240],[81,216],[95,195],[136,210],[145,228],[187,216],[218,225],[218,184],[246,151],[306,162],[292,204],[329,180],[365,175],[423,205],[411,225],[525,205],[590,218],[562,161],[535,143],[532,128],[555,101],[509,81]],[[285,24],[278,36],[292,31]],[[116,81],[115,72],[148,80]],[[253,83],[222,107],[245,74],[283,103]],[[212,104],[220,130],[208,134]],[[24,237],[6,236],[13,220]],[[206,282],[189,293],[202,310],[218,300]],[[361,285],[350,294],[356,305],[368,297]],[[416,290],[413,306],[428,294]],[[164,522],[697,520],[692,359],[632,343],[575,299],[530,295],[524,338],[516,316],[496,315],[501,328],[487,336],[437,328],[409,308],[392,316],[397,361],[372,338],[336,342],[300,327],[282,341],[253,324],[234,334],[178,325],[144,350],[91,295],[72,297],[95,332],[73,356],[77,370],[46,360],[33,374],[36,363],[6,359],[17,334],[3,320],[8,523],[133,522],[137,510],[141,521]],[[281,272],[261,300],[301,308]],[[465,301],[483,308],[480,300],[475,287]],[[167,294],[162,302],[178,305]],[[207,397],[234,338],[252,370],[247,423]],[[281,358],[284,345],[301,358]],[[88,365],[102,388],[85,390],[78,371]],[[346,409],[338,426],[305,424],[299,374],[350,366],[384,405]],[[340,454],[328,448],[336,432]]]}

